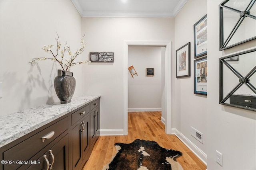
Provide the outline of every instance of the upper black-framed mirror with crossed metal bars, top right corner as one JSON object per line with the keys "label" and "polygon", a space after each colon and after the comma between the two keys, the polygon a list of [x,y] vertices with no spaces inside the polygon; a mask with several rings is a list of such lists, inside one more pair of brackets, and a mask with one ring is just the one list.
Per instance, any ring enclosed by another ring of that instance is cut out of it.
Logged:
{"label": "upper black-framed mirror with crossed metal bars, top right corner", "polygon": [[256,39],[256,0],[224,0],[219,5],[220,51]]}

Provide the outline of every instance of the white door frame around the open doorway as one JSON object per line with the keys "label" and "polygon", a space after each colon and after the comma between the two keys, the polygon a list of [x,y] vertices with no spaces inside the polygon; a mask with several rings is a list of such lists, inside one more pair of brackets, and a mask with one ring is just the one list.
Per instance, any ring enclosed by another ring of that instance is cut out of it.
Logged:
{"label": "white door frame around the open doorway", "polygon": [[172,117],[172,44],[171,41],[124,41],[124,135],[128,135],[128,46],[164,46],[166,47],[164,56],[165,88],[166,88],[166,120],[165,132],[171,134]]}

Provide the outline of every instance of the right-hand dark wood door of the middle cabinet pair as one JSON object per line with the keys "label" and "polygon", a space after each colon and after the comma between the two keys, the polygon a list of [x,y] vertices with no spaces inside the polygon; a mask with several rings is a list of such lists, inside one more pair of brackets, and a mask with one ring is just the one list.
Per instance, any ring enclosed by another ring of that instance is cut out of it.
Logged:
{"label": "right-hand dark wood door of the middle cabinet pair", "polygon": [[89,144],[89,114],[88,116],[82,121],[84,124],[84,131],[82,133],[82,152],[83,152],[83,159],[85,158],[86,154],[90,149]]}

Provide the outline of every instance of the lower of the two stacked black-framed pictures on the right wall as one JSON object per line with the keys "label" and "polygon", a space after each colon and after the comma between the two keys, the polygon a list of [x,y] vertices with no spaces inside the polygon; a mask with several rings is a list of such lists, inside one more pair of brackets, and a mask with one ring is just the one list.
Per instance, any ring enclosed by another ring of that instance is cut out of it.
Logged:
{"label": "lower of the two stacked black-framed pictures on the right wall", "polygon": [[194,94],[207,95],[207,57],[194,61]]}

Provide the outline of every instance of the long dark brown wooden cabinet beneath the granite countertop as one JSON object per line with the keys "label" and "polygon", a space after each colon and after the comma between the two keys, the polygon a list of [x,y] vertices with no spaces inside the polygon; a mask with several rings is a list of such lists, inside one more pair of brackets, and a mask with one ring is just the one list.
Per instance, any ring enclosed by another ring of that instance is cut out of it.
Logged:
{"label": "long dark brown wooden cabinet beneath the granite countertop", "polygon": [[97,98],[1,147],[0,170],[82,170],[99,135]]}

